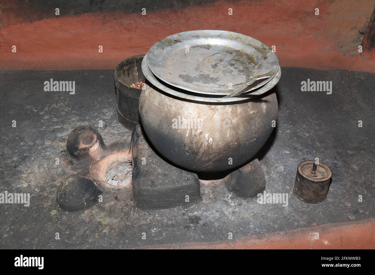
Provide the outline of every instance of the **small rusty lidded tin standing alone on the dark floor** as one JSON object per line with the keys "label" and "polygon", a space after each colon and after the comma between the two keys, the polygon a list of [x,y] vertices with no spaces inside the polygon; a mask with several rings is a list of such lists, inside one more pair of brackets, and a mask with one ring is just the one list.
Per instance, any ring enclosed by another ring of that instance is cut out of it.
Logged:
{"label": "small rusty lidded tin standing alone on the dark floor", "polygon": [[317,204],[327,197],[332,170],[325,164],[303,161],[298,165],[294,194],[303,202]]}

